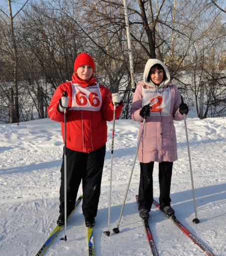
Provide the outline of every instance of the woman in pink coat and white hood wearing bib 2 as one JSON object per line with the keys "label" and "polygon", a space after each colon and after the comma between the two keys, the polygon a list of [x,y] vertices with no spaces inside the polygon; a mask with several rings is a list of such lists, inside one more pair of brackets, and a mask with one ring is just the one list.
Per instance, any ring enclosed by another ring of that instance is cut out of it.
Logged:
{"label": "woman in pink coat and white hood wearing bib 2", "polygon": [[[149,218],[153,203],[153,167],[159,163],[159,203],[167,215],[174,215],[170,206],[170,185],[173,162],[177,160],[176,131],[173,120],[182,120],[188,106],[181,104],[179,91],[170,81],[165,64],[158,59],[146,63],[143,81],[137,84],[131,106],[131,118],[141,122],[138,138],[140,161],[139,212]],[[143,134],[141,130],[144,118]]]}

